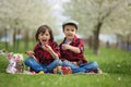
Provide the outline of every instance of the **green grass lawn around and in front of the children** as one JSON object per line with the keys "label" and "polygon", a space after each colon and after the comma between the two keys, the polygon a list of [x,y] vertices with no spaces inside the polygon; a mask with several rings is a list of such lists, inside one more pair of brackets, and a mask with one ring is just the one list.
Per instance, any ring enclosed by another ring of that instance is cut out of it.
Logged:
{"label": "green grass lawn around and in front of the children", "polygon": [[102,48],[96,57],[86,48],[85,57],[106,74],[13,75],[4,72],[8,60],[0,57],[0,87],[131,87],[131,51]]}

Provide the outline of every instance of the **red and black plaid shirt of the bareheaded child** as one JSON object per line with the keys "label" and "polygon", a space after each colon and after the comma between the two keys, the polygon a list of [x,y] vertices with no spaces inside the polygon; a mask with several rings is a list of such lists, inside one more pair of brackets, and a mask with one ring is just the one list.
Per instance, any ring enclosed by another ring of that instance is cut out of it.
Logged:
{"label": "red and black plaid shirt of the bareheaded child", "polygon": [[[52,48],[52,50],[58,54],[60,55],[60,49],[59,49],[59,46],[57,45],[56,41],[49,41],[48,45]],[[45,64],[45,65],[48,65],[50,64],[55,59],[51,57],[51,54],[44,50],[41,48],[41,45],[40,44],[37,44],[34,48],[34,52],[35,52],[35,57],[36,59]]]}

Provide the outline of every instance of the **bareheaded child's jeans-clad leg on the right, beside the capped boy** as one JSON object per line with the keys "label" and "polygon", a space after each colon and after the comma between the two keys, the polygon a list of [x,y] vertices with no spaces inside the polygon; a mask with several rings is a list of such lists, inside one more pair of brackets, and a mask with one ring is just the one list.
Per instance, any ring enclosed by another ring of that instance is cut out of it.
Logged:
{"label": "bareheaded child's jeans-clad leg on the right, beside the capped boy", "polygon": [[55,69],[57,65],[62,65],[62,61],[59,60],[59,59],[55,59],[53,62],[51,62],[49,65],[47,65],[48,72],[49,72],[49,73],[52,73],[53,69]]}

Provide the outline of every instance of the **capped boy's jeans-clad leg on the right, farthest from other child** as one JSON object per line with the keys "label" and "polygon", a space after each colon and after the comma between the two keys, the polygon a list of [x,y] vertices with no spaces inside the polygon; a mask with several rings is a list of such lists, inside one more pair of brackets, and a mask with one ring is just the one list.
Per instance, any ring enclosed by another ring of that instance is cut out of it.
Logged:
{"label": "capped boy's jeans-clad leg on the right, farthest from other child", "polygon": [[94,62],[90,62],[90,63],[82,63],[80,65],[80,67],[85,69],[86,73],[90,72],[90,71],[97,72],[98,63],[95,62],[95,61]]}

